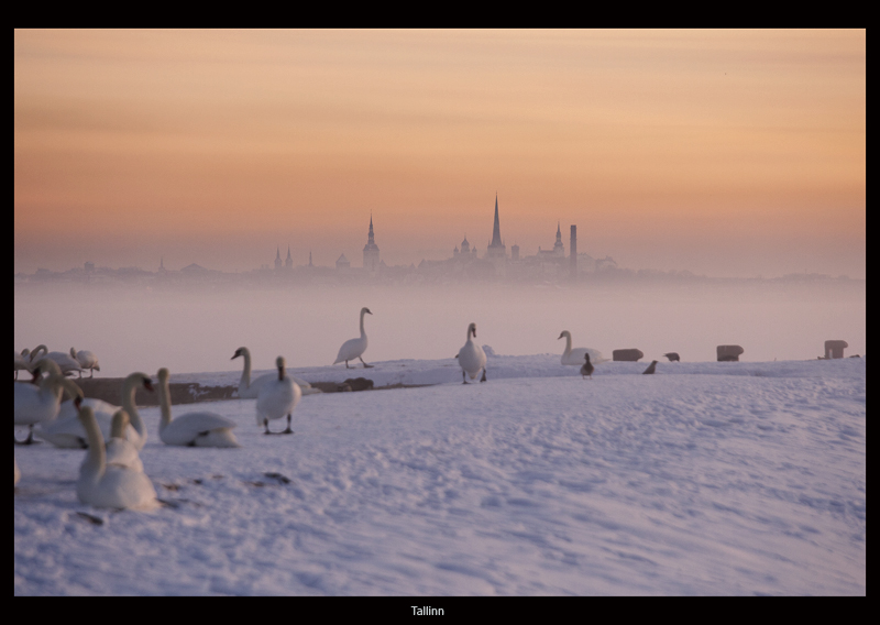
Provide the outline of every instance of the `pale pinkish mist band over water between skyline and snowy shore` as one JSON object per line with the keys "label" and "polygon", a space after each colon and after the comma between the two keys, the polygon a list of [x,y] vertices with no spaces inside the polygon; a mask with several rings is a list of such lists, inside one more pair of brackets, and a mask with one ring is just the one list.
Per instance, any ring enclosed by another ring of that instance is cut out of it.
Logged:
{"label": "pale pinkish mist band over water between skyline and snowy shore", "polygon": [[[94,351],[102,377],[241,371],[239,347],[254,370],[330,365],[340,346],[359,336],[362,306],[367,363],[453,358],[468,324],[477,342],[501,355],[558,353],[569,330],[574,347],[612,358],[637,348],[644,362],[714,361],[718,344],[739,344],[741,361],[813,360],[824,341],[865,354],[866,283],[295,286],[278,289],[193,287],[158,290],[119,285],[15,285],[14,347]],[[353,363],[352,363],[353,364]],[[340,380],[353,372],[340,369]],[[360,368],[360,362],[358,362]]]}

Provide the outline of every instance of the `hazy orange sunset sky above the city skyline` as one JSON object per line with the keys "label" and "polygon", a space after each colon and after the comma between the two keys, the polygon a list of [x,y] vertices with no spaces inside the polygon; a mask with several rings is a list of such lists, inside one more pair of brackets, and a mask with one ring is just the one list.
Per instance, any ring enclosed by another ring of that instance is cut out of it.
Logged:
{"label": "hazy orange sunset sky above the city skyline", "polygon": [[361,266],[575,223],[631,268],[865,277],[866,32],[14,34],[15,271]]}

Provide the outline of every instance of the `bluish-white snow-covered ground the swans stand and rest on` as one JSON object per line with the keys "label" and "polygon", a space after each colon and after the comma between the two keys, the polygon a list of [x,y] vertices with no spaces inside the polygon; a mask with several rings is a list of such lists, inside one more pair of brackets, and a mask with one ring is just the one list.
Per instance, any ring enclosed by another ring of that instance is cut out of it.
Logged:
{"label": "bluish-white snow-covered ground the swans stand and rest on", "polygon": [[201,404],[240,449],[164,446],[142,408],[153,512],[80,504],[82,451],[16,447],[14,593],[866,594],[865,359],[375,364],[292,372],[433,385],[305,396],[293,436]]}

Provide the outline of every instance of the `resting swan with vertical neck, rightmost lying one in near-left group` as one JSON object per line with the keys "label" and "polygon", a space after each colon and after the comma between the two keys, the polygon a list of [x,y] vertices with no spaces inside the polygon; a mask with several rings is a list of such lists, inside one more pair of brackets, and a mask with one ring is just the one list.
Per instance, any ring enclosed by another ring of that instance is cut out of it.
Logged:
{"label": "resting swan with vertical neck, rightmost lying one in near-left group", "polygon": [[241,447],[232,434],[238,424],[217,413],[207,410],[187,413],[172,420],[172,394],[168,387],[168,370],[158,370],[158,402],[162,421],[158,437],[165,445],[186,447]]}

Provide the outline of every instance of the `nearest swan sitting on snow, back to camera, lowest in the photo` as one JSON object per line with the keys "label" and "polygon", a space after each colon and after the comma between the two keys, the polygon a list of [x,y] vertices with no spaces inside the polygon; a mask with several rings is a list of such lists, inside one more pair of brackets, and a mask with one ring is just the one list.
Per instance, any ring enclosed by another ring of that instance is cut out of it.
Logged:
{"label": "nearest swan sitting on snow, back to camera, lowest in the photo", "polygon": [[89,440],[76,483],[79,501],[108,508],[148,509],[158,506],[156,489],[145,473],[107,462],[103,436],[91,406],[80,406],[78,418]]}

